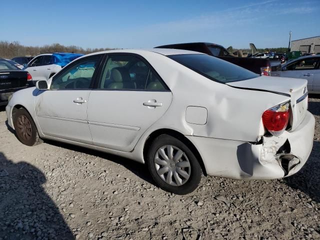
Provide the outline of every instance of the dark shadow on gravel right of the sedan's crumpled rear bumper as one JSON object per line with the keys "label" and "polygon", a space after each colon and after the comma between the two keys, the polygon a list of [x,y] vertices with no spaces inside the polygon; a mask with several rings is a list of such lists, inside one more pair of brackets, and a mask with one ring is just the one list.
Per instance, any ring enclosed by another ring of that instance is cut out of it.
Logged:
{"label": "dark shadow on gravel right of the sedan's crumpled rear bumper", "polygon": [[313,148],[309,159],[300,171],[283,178],[288,186],[299,189],[313,201],[320,202],[320,142],[313,141]]}

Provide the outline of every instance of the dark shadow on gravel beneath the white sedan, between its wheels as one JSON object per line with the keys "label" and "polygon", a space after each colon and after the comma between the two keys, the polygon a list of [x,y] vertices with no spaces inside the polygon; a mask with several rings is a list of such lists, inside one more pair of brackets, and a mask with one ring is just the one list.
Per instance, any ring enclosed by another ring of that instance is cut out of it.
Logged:
{"label": "dark shadow on gravel beneath the white sedan, between its wheels", "polygon": [[104,158],[106,160],[105,164],[107,164],[107,160],[113,161],[115,163],[118,163],[124,166],[126,169],[133,172],[135,175],[142,178],[143,180],[149,182],[150,184],[155,185],[155,182],[153,181],[152,176],[150,175],[149,169],[146,164],[142,164],[125,157],[121,157],[121,156],[117,156],[117,155],[113,155],[113,154],[109,154],[109,153],[105,153],[102,151],[97,151],[97,150],[93,150],[85,147],[71,145],[63,142],[51,141],[46,139],[44,139],[44,141],[48,144],[63,147],[72,151],[79,151],[82,153]]}

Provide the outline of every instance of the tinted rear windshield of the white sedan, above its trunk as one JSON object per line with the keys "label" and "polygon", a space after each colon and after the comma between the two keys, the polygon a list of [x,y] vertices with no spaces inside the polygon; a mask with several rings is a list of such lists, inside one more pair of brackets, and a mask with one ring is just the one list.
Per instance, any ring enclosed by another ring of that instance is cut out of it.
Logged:
{"label": "tinted rear windshield of the white sedan, above its trunk", "polygon": [[206,54],[179,54],[168,55],[168,57],[213,81],[221,83],[242,81],[259,76],[233,63]]}

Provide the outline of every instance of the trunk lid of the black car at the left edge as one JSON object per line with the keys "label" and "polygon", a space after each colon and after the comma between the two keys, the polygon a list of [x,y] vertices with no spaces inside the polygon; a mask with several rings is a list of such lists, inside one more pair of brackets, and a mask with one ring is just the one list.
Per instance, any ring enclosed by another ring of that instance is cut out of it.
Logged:
{"label": "trunk lid of the black car at the left edge", "polygon": [[25,87],[27,85],[27,71],[0,70],[0,90]]}

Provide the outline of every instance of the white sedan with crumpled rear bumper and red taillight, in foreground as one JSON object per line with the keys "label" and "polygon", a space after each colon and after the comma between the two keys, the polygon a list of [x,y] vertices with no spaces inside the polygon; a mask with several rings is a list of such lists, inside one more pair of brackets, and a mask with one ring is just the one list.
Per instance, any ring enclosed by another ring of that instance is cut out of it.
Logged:
{"label": "white sedan with crumpled rear bumper and red taillight, in foreground", "polygon": [[52,139],[146,163],[161,188],[186,194],[202,172],[297,172],[313,143],[306,83],[194,51],[111,50],[15,92],[6,114],[26,145]]}

